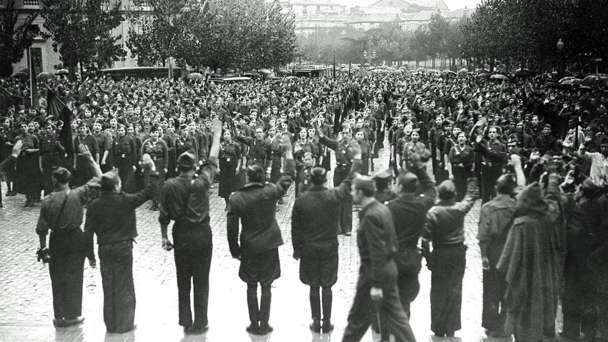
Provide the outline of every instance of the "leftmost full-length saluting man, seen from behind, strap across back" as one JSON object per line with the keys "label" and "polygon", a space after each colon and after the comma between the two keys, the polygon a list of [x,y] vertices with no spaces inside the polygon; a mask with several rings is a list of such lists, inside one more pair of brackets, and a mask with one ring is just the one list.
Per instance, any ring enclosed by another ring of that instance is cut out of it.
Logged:
{"label": "leftmost full-length saluting man, seen from behind, strap across back", "polygon": [[[80,145],[81,158],[87,162],[94,176],[102,174],[85,144]],[[15,143],[13,155],[6,162],[14,160],[21,150],[21,141]],[[15,158],[13,158],[15,157]],[[10,159],[13,158],[13,159]],[[3,163],[4,164],[4,163]],[[14,164],[13,164],[14,165]],[[46,248],[46,236],[50,229],[50,283],[53,291],[53,310],[57,327],[81,323],[82,284],[85,256],[89,265],[95,267],[92,234],[83,234],[83,206],[94,198],[98,191],[89,181],[83,186],[70,189],[71,173],[58,167],[52,175],[54,192],[42,200],[36,233],[40,237],[40,251]]]}

